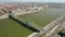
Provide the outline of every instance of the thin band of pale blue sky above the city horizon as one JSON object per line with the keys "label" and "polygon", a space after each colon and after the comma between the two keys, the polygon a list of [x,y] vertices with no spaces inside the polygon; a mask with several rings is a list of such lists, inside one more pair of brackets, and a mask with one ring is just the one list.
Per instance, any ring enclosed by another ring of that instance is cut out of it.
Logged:
{"label": "thin band of pale blue sky above the city horizon", "polygon": [[0,2],[64,2],[65,0],[0,0]]}

